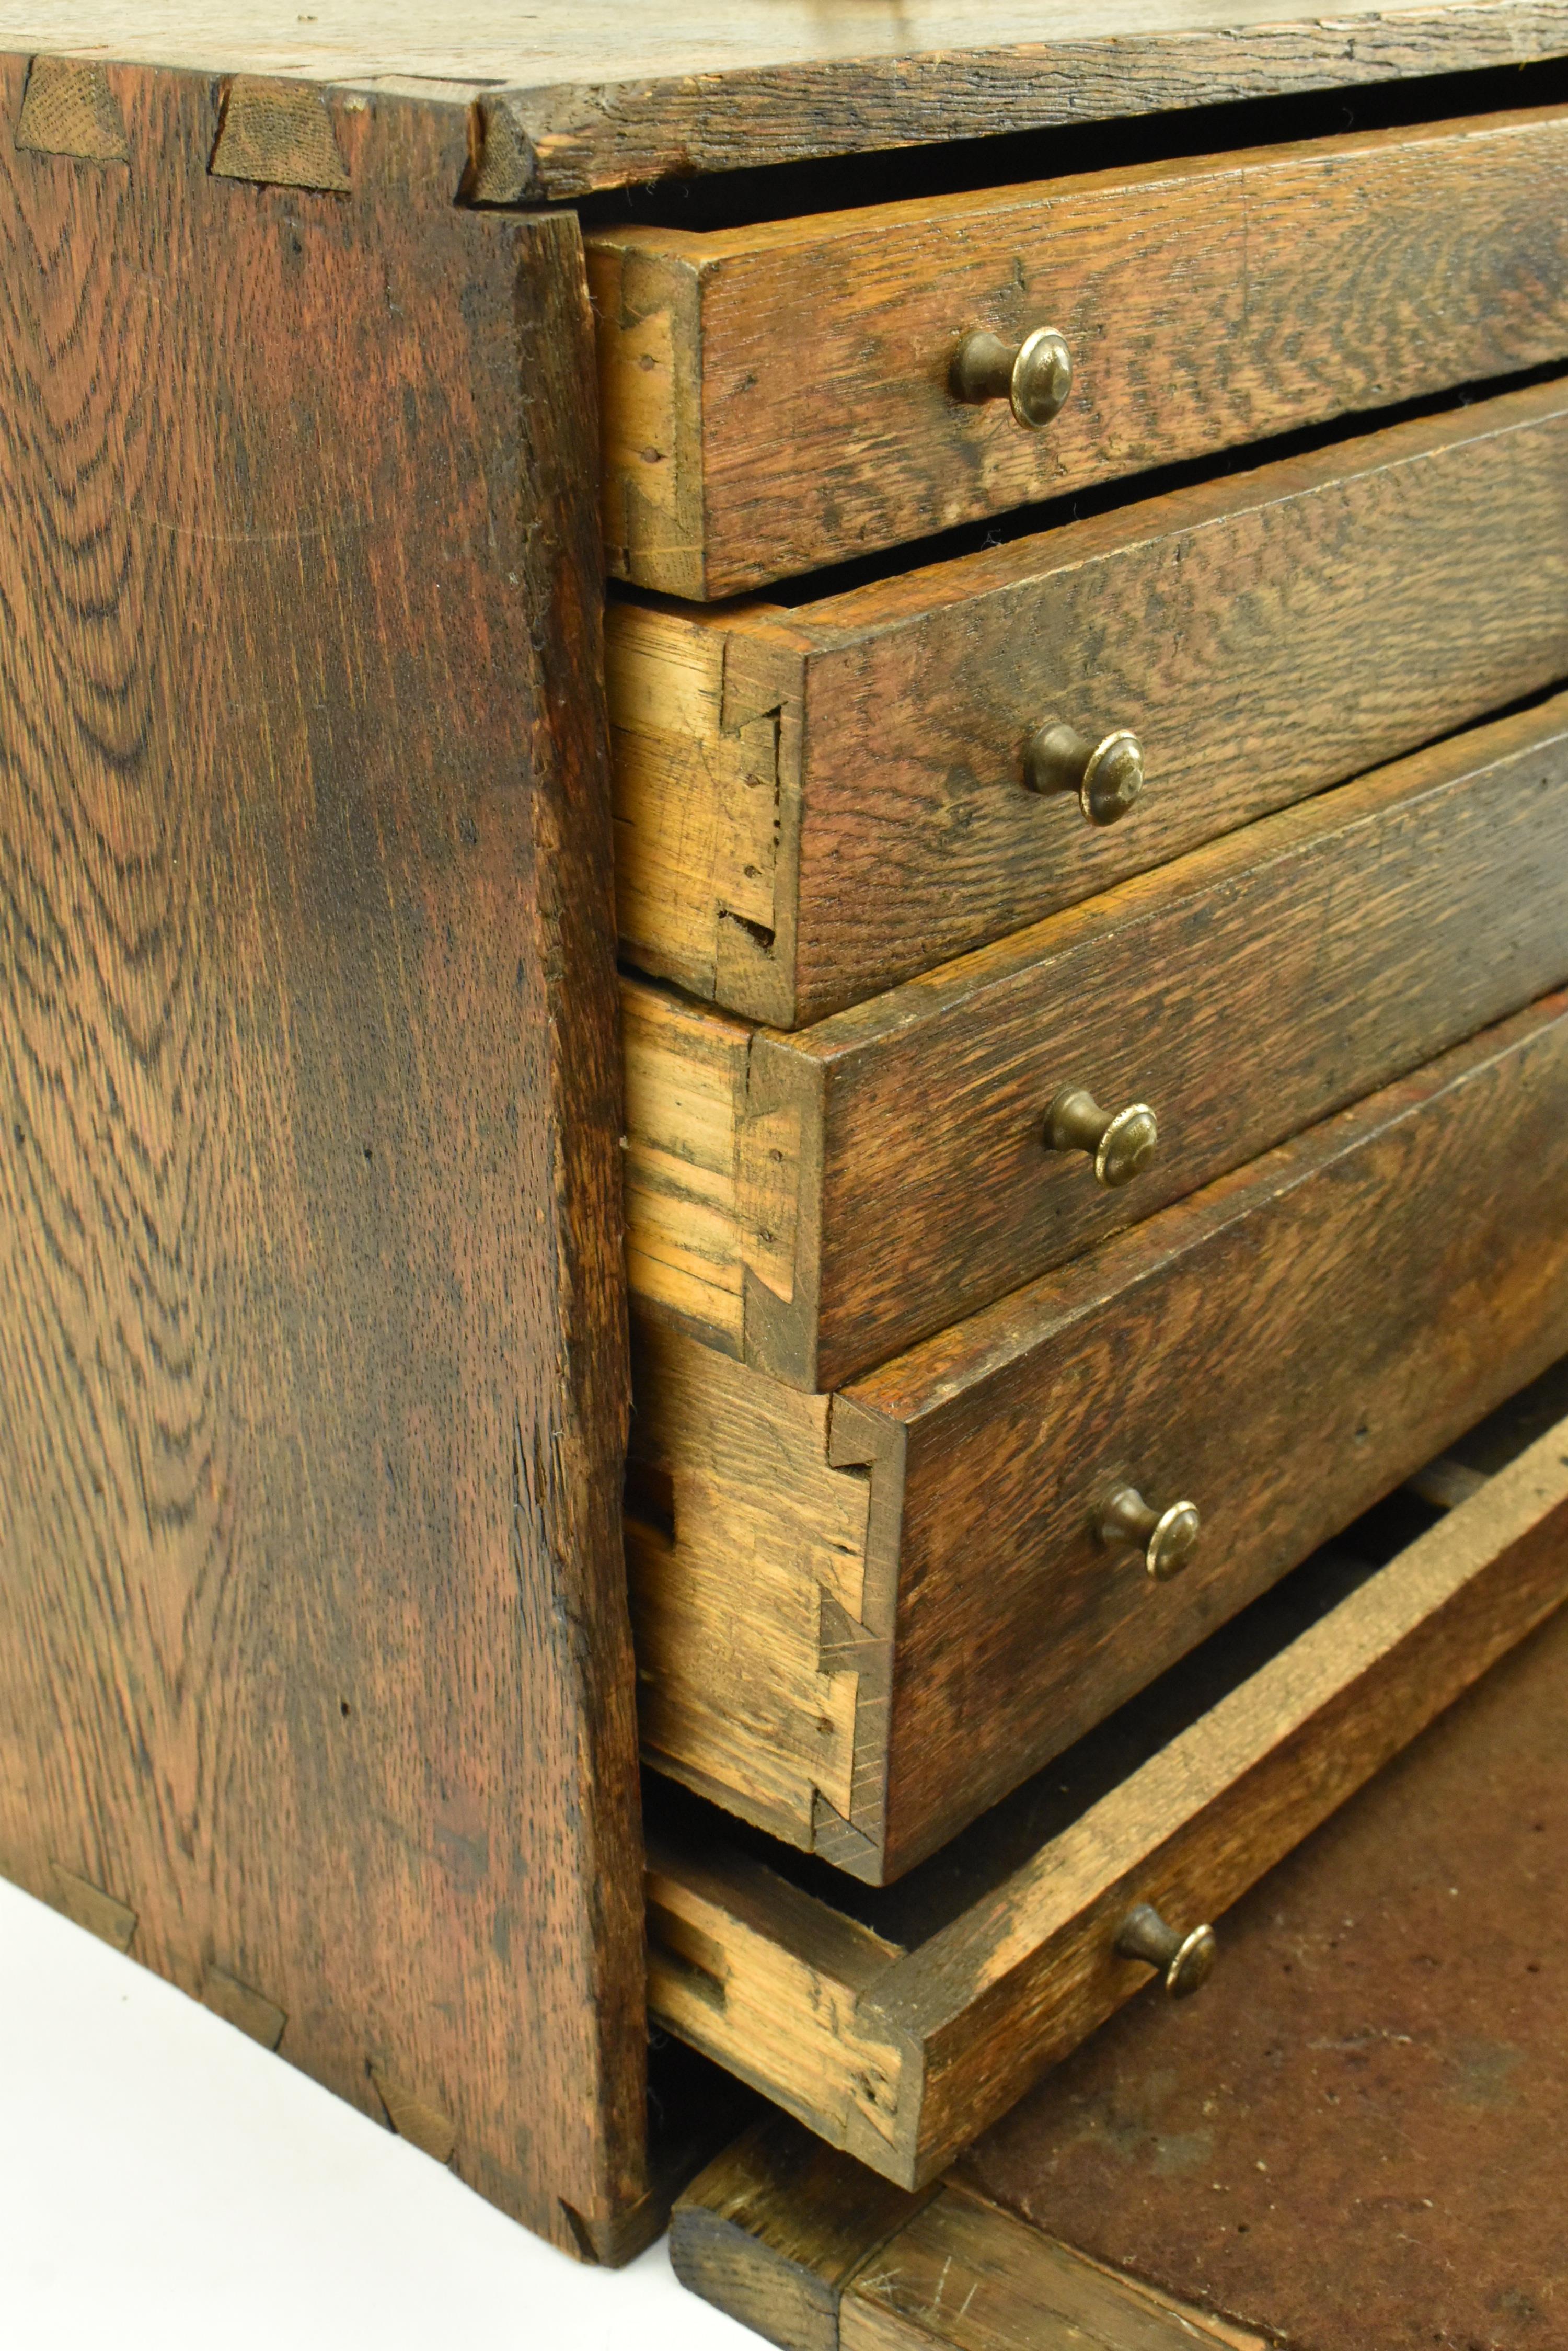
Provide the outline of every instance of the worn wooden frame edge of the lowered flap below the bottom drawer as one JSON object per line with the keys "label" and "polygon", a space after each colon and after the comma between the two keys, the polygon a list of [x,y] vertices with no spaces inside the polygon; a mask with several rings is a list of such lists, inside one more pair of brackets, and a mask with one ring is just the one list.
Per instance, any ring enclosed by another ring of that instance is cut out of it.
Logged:
{"label": "worn wooden frame edge of the lowered flap below the bottom drawer", "polygon": [[780,2351],[856,2344],[1039,2351],[1260,2351],[1041,2236],[969,2186],[910,2193],[785,2116],[757,2123],[679,2198],[682,2285]]}

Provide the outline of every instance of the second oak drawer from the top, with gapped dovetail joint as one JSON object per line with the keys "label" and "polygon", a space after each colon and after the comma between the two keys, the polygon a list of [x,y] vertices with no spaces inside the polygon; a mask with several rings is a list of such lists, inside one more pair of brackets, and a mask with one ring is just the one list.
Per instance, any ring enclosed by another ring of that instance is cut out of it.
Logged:
{"label": "second oak drawer from the top, with gapped dovetail joint", "polygon": [[[799,1027],[1568,677],[1568,386],[607,656],[628,959]],[[1030,790],[1048,719],[1128,813]]]}

